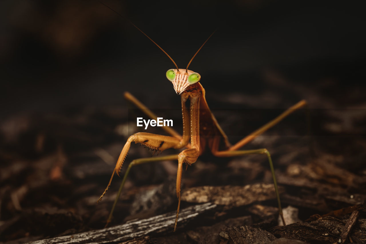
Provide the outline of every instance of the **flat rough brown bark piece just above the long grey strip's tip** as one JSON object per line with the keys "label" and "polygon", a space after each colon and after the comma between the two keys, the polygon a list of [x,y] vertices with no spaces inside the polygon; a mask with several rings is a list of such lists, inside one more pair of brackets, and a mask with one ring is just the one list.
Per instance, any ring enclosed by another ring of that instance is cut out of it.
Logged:
{"label": "flat rough brown bark piece just above the long grey strip's tip", "polygon": [[[279,187],[279,192],[283,188]],[[190,203],[212,202],[218,205],[239,207],[257,201],[275,199],[273,184],[252,184],[246,186],[198,186],[184,190],[182,201]]]}

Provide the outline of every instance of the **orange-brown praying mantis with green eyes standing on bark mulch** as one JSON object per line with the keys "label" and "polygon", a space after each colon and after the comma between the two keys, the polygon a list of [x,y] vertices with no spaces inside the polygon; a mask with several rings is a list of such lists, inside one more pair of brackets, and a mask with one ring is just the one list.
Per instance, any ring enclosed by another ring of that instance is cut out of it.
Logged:
{"label": "orange-brown praying mantis with green eyes standing on bark mulch", "polygon": [[[105,5],[105,4],[104,4]],[[108,7],[107,5],[105,5]],[[109,7],[108,7],[109,8]],[[116,12],[112,8],[109,8],[112,11]],[[116,12],[120,15],[118,12]],[[122,15],[120,15],[122,16]],[[122,16],[124,18],[124,16]],[[131,22],[131,21],[130,21]],[[201,81],[201,75],[192,70],[188,70],[188,67],[197,53],[201,50],[203,45],[209,40],[209,38],[213,35],[213,33],[207,38],[207,40],[201,45],[198,51],[194,54],[193,58],[189,61],[186,69],[179,69],[174,60],[168,55],[167,52],[163,50],[156,42],[154,42],[149,36],[147,36],[142,30],[140,30],[137,26],[135,26],[132,22],[131,24],[136,27],[142,34],[144,34],[147,38],[149,38],[158,48],[160,48],[169,59],[175,65],[175,69],[169,69],[166,72],[166,77],[172,83],[175,92],[180,95],[181,105],[182,105],[182,117],[183,117],[183,135],[181,136],[175,130],[169,127],[162,127],[167,133],[171,136],[163,136],[160,134],[152,134],[139,132],[135,133],[127,139],[126,144],[124,145],[121,154],[117,160],[116,167],[113,170],[111,179],[109,180],[108,186],[100,196],[97,202],[99,202],[105,193],[108,191],[113,175],[116,173],[117,175],[121,174],[123,162],[126,159],[127,153],[130,149],[131,143],[140,143],[145,145],[147,148],[155,150],[155,151],[164,151],[168,148],[175,149],[183,149],[179,154],[166,155],[166,156],[156,156],[152,158],[141,158],[133,160],[126,170],[124,174],[122,183],[119,188],[119,192],[113,204],[112,210],[109,214],[109,218],[107,220],[107,225],[111,222],[113,210],[116,206],[117,200],[122,192],[122,188],[124,183],[126,182],[126,178],[132,166],[156,162],[162,160],[177,160],[178,161],[178,170],[177,170],[177,179],[176,179],[176,194],[178,197],[178,208],[177,214],[174,224],[174,231],[177,227],[179,208],[180,208],[180,185],[182,180],[182,170],[183,164],[186,164],[186,167],[195,163],[197,158],[203,154],[205,148],[209,148],[210,152],[217,157],[232,157],[232,156],[241,156],[241,155],[249,155],[249,154],[262,154],[268,158],[268,162],[270,165],[270,169],[272,172],[273,183],[275,187],[275,192],[277,196],[277,202],[279,207],[279,214],[282,218],[283,223],[285,223],[283,218],[283,213],[281,209],[280,196],[277,188],[277,182],[275,177],[275,172],[273,168],[272,159],[269,151],[266,148],[254,149],[254,150],[239,150],[245,144],[249,143],[258,135],[262,134],[270,127],[276,125],[282,119],[287,117],[289,114],[294,112],[295,110],[306,106],[306,101],[302,100],[296,103],[294,106],[285,110],[278,117],[268,122],[266,125],[260,127],[255,130],[253,133],[244,137],[238,143],[231,145],[228,141],[228,137],[221,129],[220,125],[217,123],[216,118],[212,114],[207,104],[205,98],[205,89],[199,81]],[[132,103],[134,103],[138,108],[140,108],[147,116],[152,119],[156,119],[157,116],[150,110],[147,109],[140,101],[138,101],[134,96],[130,93],[125,93],[125,98]],[[106,226],[107,226],[106,225]]]}

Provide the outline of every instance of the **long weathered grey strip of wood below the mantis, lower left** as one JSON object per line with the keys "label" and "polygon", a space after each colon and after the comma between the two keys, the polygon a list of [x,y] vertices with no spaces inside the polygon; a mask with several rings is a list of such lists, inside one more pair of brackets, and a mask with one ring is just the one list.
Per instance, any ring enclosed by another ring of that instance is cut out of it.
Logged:
{"label": "long weathered grey strip of wood below the mantis, lower left", "polygon": [[[182,228],[189,221],[207,211],[212,211],[216,204],[205,203],[184,208],[179,213],[178,228]],[[149,233],[173,232],[176,212],[157,215],[148,219],[141,219],[117,225],[110,228],[91,230],[70,236],[61,236],[46,240],[35,241],[33,244],[56,243],[115,243],[145,236]]]}

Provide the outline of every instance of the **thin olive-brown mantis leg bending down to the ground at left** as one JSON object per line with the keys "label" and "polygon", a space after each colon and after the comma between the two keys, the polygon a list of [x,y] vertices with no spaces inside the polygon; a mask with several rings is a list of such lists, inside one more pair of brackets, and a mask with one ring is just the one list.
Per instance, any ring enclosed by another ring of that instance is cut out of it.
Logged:
{"label": "thin olive-brown mantis leg bending down to the ground at left", "polygon": [[[178,159],[178,154],[167,155],[167,156],[157,156],[157,157],[154,157],[154,158],[140,158],[140,159],[132,160],[132,162],[127,167],[126,173],[124,173],[122,183],[119,186],[119,190],[118,190],[116,199],[115,199],[115,201],[113,203],[111,212],[109,212],[109,217],[107,219],[107,223],[105,224],[104,228],[106,228],[107,225],[112,221],[113,211],[114,211],[114,209],[116,207],[116,204],[118,202],[119,196],[121,195],[121,192],[122,192],[124,183],[126,182],[127,175],[130,172],[132,166],[135,166],[135,165],[138,165],[138,164],[142,164],[142,163],[150,163],[150,162],[163,161],[163,160],[177,160],[177,159]],[[113,171],[113,174],[114,174],[114,172],[115,171]],[[112,177],[113,177],[113,174],[112,174]],[[112,178],[111,178],[111,180],[112,180]],[[109,184],[111,184],[111,181],[109,181]]]}

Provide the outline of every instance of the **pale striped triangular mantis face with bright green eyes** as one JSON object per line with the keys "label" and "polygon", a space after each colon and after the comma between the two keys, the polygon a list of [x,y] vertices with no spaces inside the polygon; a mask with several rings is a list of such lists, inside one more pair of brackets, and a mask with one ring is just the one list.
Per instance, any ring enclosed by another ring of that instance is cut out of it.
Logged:
{"label": "pale striped triangular mantis face with bright green eyes", "polygon": [[168,80],[173,83],[174,90],[178,95],[182,94],[188,86],[201,80],[201,75],[192,70],[187,70],[186,73],[186,69],[179,69],[178,72],[177,69],[170,69],[166,75]]}

